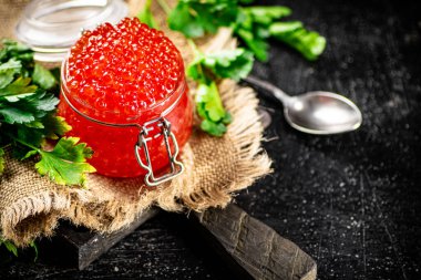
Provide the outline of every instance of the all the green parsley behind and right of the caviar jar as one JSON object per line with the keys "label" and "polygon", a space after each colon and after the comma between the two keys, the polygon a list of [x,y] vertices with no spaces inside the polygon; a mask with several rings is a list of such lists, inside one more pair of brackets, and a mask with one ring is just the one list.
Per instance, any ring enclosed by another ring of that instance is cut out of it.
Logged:
{"label": "all the green parsley behind and right of the caviar jar", "polygon": [[[201,128],[214,136],[222,136],[232,121],[220,101],[219,79],[238,81],[247,76],[253,68],[253,56],[267,61],[270,39],[288,44],[309,61],[317,60],[326,48],[326,39],[307,30],[301,22],[280,21],[292,12],[287,7],[250,6],[253,0],[178,0],[171,9],[165,0],[157,2],[168,15],[168,27],[189,39],[195,50],[187,76],[197,82],[195,101],[203,120]],[[151,0],[146,1],[138,18],[156,28],[151,3]],[[220,27],[229,27],[243,48],[215,53],[198,51],[193,39],[215,33]]]}

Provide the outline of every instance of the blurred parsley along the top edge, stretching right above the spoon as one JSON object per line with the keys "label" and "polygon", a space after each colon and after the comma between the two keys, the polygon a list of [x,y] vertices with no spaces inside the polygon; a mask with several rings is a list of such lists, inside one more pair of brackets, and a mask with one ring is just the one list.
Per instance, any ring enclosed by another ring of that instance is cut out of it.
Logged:
{"label": "blurred parsley along the top edge, stretching right above the spoon", "polygon": [[179,0],[168,15],[171,29],[187,38],[215,33],[230,27],[234,35],[258,60],[268,59],[268,40],[276,39],[300,52],[307,60],[316,60],[325,50],[326,39],[308,31],[299,21],[280,21],[291,14],[287,7],[248,6],[253,0]]}

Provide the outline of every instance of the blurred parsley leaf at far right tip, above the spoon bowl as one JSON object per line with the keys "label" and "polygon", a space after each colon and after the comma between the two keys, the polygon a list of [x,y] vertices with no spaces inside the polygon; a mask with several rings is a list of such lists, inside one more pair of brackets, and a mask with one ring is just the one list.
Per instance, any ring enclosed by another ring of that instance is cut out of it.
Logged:
{"label": "blurred parsley leaf at far right tip, above the spoon bowl", "polygon": [[315,31],[308,31],[299,21],[276,22],[269,27],[270,35],[299,51],[307,60],[319,58],[326,48],[326,39]]}

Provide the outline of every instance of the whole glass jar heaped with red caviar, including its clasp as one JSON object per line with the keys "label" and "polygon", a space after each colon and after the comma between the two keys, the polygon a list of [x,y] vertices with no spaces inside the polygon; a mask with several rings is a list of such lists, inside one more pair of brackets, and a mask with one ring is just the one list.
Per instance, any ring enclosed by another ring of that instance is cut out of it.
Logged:
{"label": "whole glass jar heaped with red caviar, including its clasp", "polygon": [[59,114],[94,151],[97,173],[155,186],[183,170],[193,111],[182,56],[161,31],[137,19],[85,31],[61,79]]}

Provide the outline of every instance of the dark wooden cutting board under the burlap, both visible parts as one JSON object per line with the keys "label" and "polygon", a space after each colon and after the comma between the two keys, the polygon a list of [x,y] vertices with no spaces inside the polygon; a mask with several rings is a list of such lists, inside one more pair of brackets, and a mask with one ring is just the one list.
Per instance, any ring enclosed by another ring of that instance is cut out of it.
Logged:
{"label": "dark wooden cutting board under the burlap, both visible parts", "polygon": [[[64,224],[51,242],[42,243],[41,250],[60,250],[63,260],[59,262],[82,270],[158,212],[152,208],[130,227],[111,235]],[[234,204],[225,209],[195,212],[186,219],[189,230],[199,236],[238,279],[316,279],[317,266],[310,256]]]}

